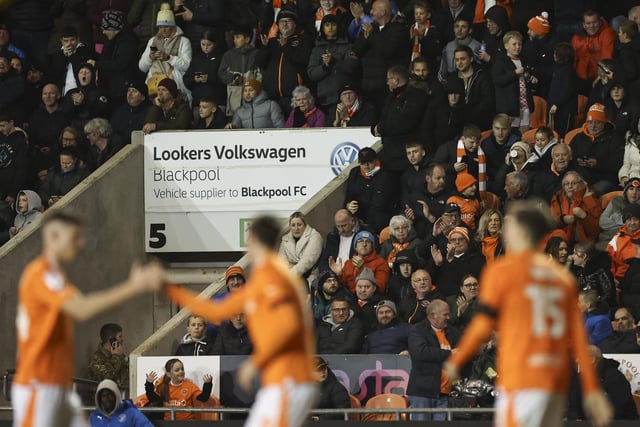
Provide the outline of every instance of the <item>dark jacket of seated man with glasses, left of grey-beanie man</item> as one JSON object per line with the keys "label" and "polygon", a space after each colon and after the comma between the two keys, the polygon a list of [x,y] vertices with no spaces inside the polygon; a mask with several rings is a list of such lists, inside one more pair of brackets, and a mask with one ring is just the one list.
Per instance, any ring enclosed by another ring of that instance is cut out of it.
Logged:
{"label": "dark jacket of seated man with glasses, left of grey-beanie man", "polygon": [[319,354],[359,354],[364,340],[364,326],[351,310],[349,319],[341,324],[335,324],[328,314],[316,327],[317,346]]}

